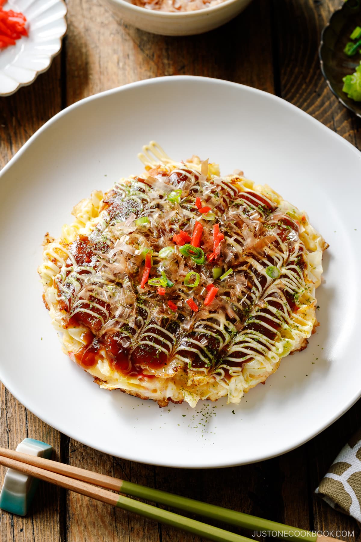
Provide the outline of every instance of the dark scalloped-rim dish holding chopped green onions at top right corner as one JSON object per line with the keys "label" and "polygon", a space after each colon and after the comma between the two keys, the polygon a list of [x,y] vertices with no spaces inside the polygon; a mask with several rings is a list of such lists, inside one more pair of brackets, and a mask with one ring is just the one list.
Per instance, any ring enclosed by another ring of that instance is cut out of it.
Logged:
{"label": "dark scalloped-rim dish holding chopped green onions at top right corner", "polygon": [[342,92],[342,78],[355,72],[361,55],[349,57],[344,53],[346,43],[355,27],[361,26],[361,0],[347,0],[330,18],[329,24],[323,29],[319,47],[321,72],[333,94],[348,109],[361,117],[361,102],[347,98]]}

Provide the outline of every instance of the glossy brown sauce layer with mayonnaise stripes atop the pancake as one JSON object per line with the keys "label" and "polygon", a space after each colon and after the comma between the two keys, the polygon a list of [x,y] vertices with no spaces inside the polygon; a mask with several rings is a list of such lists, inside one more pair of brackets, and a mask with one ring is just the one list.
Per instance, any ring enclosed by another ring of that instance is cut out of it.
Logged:
{"label": "glossy brown sauce layer with mayonnaise stripes atop the pancake", "polygon": [[[170,191],[179,189],[179,201],[169,201]],[[200,215],[196,198],[211,207],[210,217]],[[141,217],[148,223],[136,227]],[[212,251],[213,226],[219,224],[224,240],[218,258],[199,265],[175,247],[161,259],[162,248],[174,247],[173,235],[192,235],[196,221],[205,253]],[[140,287],[146,250],[153,251],[149,277],[163,271],[174,282],[165,295],[148,283]],[[226,383],[245,363],[267,366],[280,355],[279,336],[305,325],[297,317],[306,290],[305,251],[297,221],[239,176],[209,178],[188,165],[169,164],[150,170],[149,178],[115,184],[95,228],[71,244],[51,243],[45,254],[63,327],[83,330],[83,346],[74,354],[78,364],[91,367],[101,355],[124,375],[172,376],[185,366]],[[214,267],[233,272],[214,280]],[[277,278],[267,273],[270,267],[278,269]],[[200,275],[195,288],[184,283],[191,271]],[[212,283],[218,293],[205,307]]]}

